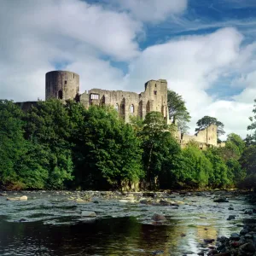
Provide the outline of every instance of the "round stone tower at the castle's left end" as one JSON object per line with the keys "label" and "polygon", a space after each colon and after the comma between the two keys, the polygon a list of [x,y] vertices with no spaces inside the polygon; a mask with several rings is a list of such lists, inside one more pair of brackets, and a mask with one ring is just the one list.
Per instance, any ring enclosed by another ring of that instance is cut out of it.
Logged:
{"label": "round stone tower at the castle's left end", "polygon": [[50,71],[45,74],[45,99],[63,101],[79,96],[79,74],[69,71]]}

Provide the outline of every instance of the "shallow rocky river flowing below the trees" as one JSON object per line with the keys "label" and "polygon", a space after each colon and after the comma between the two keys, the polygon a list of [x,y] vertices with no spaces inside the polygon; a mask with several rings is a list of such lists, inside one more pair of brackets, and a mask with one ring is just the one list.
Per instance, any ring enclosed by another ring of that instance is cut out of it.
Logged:
{"label": "shallow rocky river flowing below the trees", "polygon": [[[22,195],[27,201],[7,201]],[[228,202],[214,202],[220,197]],[[0,255],[207,255],[214,242],[204,240],[230,236],[254,218],[246,199],[224,191],[3,192]],[[166,221],[155,222],[154,213]]]}

